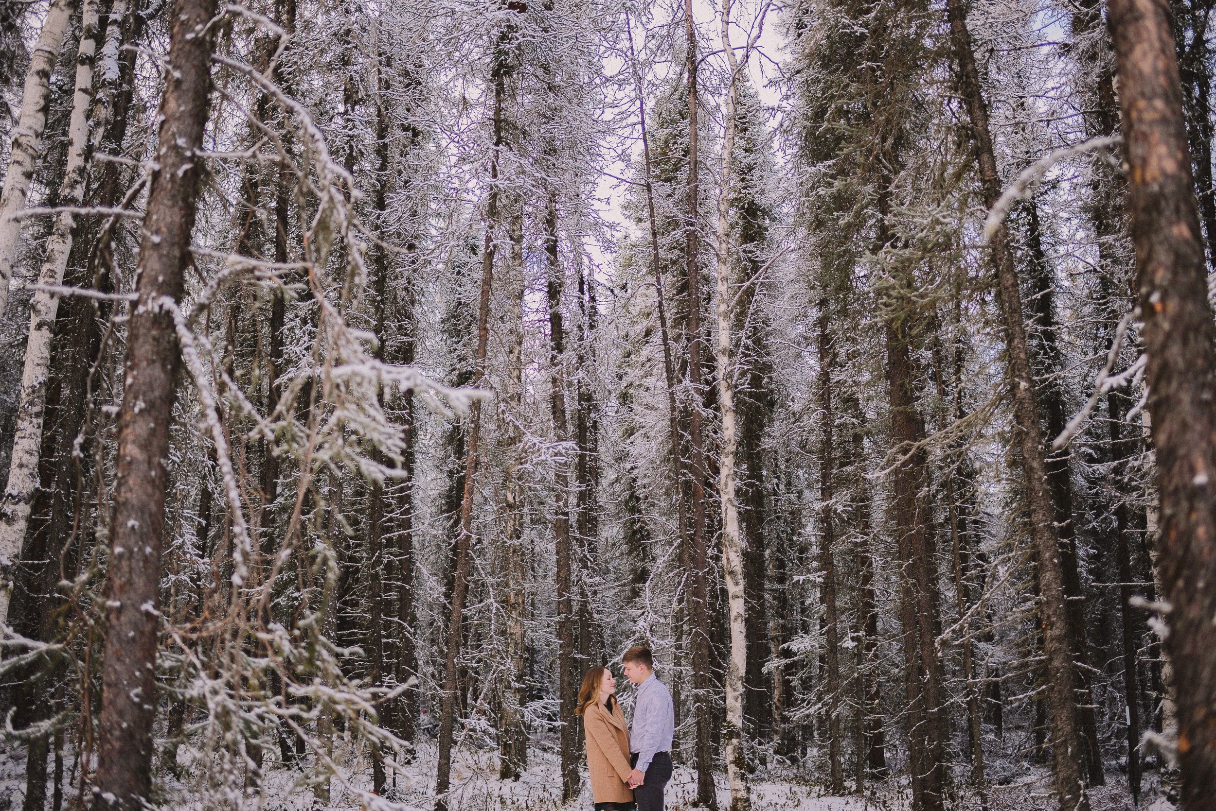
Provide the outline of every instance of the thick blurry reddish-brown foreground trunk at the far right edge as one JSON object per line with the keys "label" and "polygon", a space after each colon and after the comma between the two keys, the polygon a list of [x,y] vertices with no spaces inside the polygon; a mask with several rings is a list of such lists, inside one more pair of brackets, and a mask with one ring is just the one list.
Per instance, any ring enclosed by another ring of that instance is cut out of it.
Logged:
{"label": "thick blurry reddish-brown foreground trunk at the far right edge", "polygon": [[1216,322],[1169,6],[1111,0],[1119,104],[1144,321],[1160,499],[1165,640],[1178,713],[1182,807],[1216,809]]}

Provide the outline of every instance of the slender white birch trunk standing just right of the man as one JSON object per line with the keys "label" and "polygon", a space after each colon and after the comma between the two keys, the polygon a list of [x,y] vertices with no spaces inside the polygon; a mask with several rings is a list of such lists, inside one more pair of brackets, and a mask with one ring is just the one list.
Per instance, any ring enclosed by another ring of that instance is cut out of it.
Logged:
{"label": "slender white birch trunk standing just right of the man", "polygon": [[734,120],[738,110],[739,66],[731,50],[731,0],[722,0],[722,50],[731,68],[726,91],[726,131],[722,136],[722,178],[717,198],[717,387],[722,407],[722,455],[719,494],[722,503],[722,569],[730,612],[731,651],[726,665],[726,776],[731,783],[731,811],[748,811],[751,799],[743,754],[743,674],[748,664],[748,639],[743,597],[743,544],[734,499],[734,454],[738,446],[734,416],[734,382],[731,368],[731,186],[734,158]]}

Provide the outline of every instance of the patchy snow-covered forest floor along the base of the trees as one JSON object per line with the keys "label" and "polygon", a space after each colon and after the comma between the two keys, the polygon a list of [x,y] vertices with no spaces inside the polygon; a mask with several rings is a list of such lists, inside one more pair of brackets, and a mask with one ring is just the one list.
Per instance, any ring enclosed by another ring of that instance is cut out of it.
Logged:
{"label": "patchy snow-covered forest floor along the base of the trees", "polygon": [[[6,750],[7,749],[7,750]],[[0,811],[17,811],[24,799],[24,756],[23,752],[12,752],[9,743],[0,745]],[[434,758],[433,747],[420,752],[415,762],[410,764],[396,777],[395,788],[390,786],[385,794],[406,809],[430,811],[434,807]],[[317,804],[310,788],[299,784],[300,772],[277,769],[277,761],[266,776],[266,794],[260,809],[265,811],[355,811],[360,809],[359,799],[350,790],[333,782],[328,804]],[[64,770],[69,764],[64,764]],[[350,764],[345,771],[347,778],[355,786],[371,784],[371,767],[366,760]],[[1173,811],[1175,806],[1160,799],[1156,790],[1156,775],[1145,775],[1144,796],[1137,810],[1127,794],[1122,775],[1111,773],[1107,786],[1091,789],[1092,811]],[[725,775],[717,783],[720,809],[730,807],[730,792]],[[204,809],[187,784],[168,784],[168,793],[174,800],[165,807],[174,811],[212,811]],[[993,786],[990,789],[990,811],[1049,811],[1055,807],[1045,770],[1028,770],[1021,779],[1008,786]],[[64,793],[71,789],[64,787]],[[693,807],[697,783],[696,772],[677,767],[671,782],[668,783],[668,811],[688,811]],[[47,807],[50,807],[51,787],[47,787]],[[249,798],[247,807],[259,807]],[[751,800],[755,811],[905,811],[908,807],[910,794],[903,781],[886,781],[872,784],[866,795],[832,796],[826,787],[815,782],[810,775],[771,773],[758,775],[751,783]],[[64,807],[68,803],[64,801]],[[970,811],[979,809],[978,798],[958,796],[947,803],[951,811]],[[519,781],[501,781],[497,776],[497,756],[495,753],[462,753],[452,765],[452,811],[584,811],[591,809],[591,794],[584,775],[582,794],[570,804],[561,801],[561,783],[556,755],[545,752],[530,753],[529,767]]]}

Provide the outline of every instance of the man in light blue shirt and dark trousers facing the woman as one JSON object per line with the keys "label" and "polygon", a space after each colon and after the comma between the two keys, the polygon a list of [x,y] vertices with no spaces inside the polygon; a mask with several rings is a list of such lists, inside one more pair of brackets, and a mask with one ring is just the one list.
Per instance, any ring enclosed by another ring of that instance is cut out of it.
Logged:
{"label": "man in light blue shirt and dark trousers facing the woman", "polygon": [[629,787],[634,789],[637,811],[663,811],[663,787],[671,779],[671,736],[676,714],[671,693],[654,675],[651,648],[636,645],[623,658],[625,677],[636,687],[634,726],[629,731],[629,752],[634,771]]}

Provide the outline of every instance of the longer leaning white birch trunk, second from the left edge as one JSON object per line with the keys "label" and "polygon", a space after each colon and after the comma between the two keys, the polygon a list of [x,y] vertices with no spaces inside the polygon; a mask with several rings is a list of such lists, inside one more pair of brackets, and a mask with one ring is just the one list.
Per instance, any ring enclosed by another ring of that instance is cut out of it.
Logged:
{"label": "longer leaning white birch trunk, second from the left edge", "polygon": [[[92,72],[100,28],[96,0],[85,0],[80,12],[75,96],[72,100],[72,117],[68,121],[67,168],[60,187],[60,205],[63,206],[79,206],[84,199],[85,178],[89,175],[89,108],[92,104]],[[94,131],[105,129],[105,108],[98,112],[98,118],[102,120],[95,121],[100,126]],[[68,254],[72,253],[74,225],[75,217],[68,211],[62,211],[55,217],[55,226],[46,243],[46,257],[38,274],[39,285],[62,284]],[[4,566],[5,571],[11,571],[17,555],[21,554],[26,526],[29,522],[30,503],[38,490],[43,410],[46,406],[46,378],[51,365],[51,330],[55,327],[58,306],[58,296],[45,289],[38,289],[29,307],[29,340],[26,344],[26,365],[21,375],[17,427],[12,460],[9,464],[9,486],[4,499],[0,500],[0,566]],[[4,585],[0,586],[0,624],[9,619],[11,594],[12,580],[6,577]]]}

